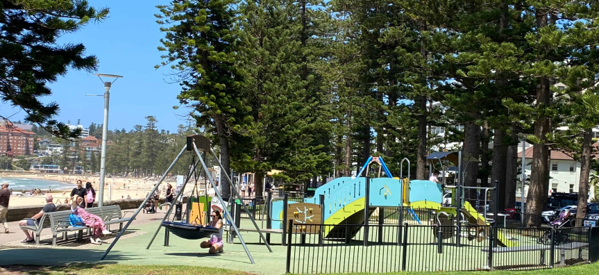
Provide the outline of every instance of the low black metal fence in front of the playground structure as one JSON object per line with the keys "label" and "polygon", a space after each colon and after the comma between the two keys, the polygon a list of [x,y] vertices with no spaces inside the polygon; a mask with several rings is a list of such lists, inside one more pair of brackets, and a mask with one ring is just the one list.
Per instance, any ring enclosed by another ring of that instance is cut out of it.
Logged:
{"label": "low black metal fence in front of the playground structure", "polygon": [[590,227],[332,226],[292,221],[288,226],[287,273],[294,274],[544,269],[599,259],[599,228]]}

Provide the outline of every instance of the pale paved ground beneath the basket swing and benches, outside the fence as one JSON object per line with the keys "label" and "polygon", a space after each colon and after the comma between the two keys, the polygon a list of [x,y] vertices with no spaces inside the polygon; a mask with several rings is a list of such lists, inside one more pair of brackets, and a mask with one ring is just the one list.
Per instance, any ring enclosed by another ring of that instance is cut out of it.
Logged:
{"label": "pale paved ground beneath the basket swing and benches, outside the fence", "polygon": [[[128,215],[130,217],[131,214]],[[286,247],[280,245],[280,235],[272,235],[273,253],[269,253],[264,244],[259,244],[258,233],[242,233],[248,244],[255,265],[251,265],[239,239],[234,244],[225,244],[225,253],[210,255],[199,244],[202,240],[183,240],[171,234],[170,246],[164,247],[164,230],[158,233],[150,249],[146,249],[158,221],[164,217],[158,214],[140,214],[128,229],[126,235],[112,249],[106,260],[100,261],[104,251],[114,237],[105,238],[108,244],[100,246],[84,242],[69,241],[69,244],[51,247],[44,244],[39,247],[21,246],[6,247],[6,244],[17,244],[24,238],[24,233],[18,229],[18,224],[9,224],[12,232],[0,234],[0,266],[1,265],[66,265],[69,263],[119,263],[125,265],[196,265],[201,267],[221,267],[244,272],[265,275],[285,273]],[[257,221],[260,225],[260,221]],[[249,219],[242,219],[242,228],[251,228]],[[115,226],[114,229],[118,227]],[[18,230],[18,231],[17,231]],[[44,235],[51,235],[44,231]],[[43,238],[42,238],[43,239]],[[87,239],[87,238],[86,238]],[[47,241],[46,241],[47,242]],[[42,242],[43,244],[43,242]],[[74,244],[74,245],[73,245]],[[79,245],[78,245],[79,244]],[[31,247],[31,248],[30,248]]]}

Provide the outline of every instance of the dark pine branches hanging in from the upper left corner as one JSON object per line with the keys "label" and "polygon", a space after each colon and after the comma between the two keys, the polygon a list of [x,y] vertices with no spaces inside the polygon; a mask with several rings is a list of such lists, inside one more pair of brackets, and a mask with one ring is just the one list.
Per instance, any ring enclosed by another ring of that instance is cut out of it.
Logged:
{"label": "dark pine branches hanging in from the upper left corner", "polygon": [[97,68],[96,57],[85,56],[83,44],[60,45],[56,40],[106,19],[108,8],[96,10],[85,0],[3,0],[0,9],[1,99],[22,108],[26,122],[61,138],[78,137],[81,130],[70,131],[56,121],[58,104],[40,99],[52,93],[47,83],[69,68],[87,72]]}

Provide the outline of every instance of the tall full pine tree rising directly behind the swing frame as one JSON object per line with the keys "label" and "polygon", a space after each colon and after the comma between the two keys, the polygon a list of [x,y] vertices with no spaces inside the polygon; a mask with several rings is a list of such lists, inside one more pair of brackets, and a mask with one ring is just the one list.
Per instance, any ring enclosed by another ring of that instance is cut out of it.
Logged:
{"label": "tall full pine tree rising directly behind the swing frame", "polygon": [[[180,76],[181,103],[194,109],[199,126],[210,126],[220,146],[221,163],[230,174],[231,131],[241,131],[248,122],[242,113],[247,110],[239,94],[242,81],[235,66],[237,33],[235,0],[173,1],[158,6],[158,24],[165,25],[161,40],[162,66],[170,65]],[[224,178],[221,178],[224,182]],[[223,196],[230,195],[230,186],[221,185]]]}

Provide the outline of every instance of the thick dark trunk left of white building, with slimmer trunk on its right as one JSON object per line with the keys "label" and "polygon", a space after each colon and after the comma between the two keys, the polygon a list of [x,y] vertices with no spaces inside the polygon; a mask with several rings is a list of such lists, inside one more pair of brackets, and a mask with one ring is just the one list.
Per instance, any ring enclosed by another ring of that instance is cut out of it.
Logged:
{"label": "thick dark trunk left of white building, with slimmer trunk on its right", "polygon": [[[493,138],[493,171],[491,181],[498,181],[498,194],[505,194],[505,171],[507,168],[507,146],[505,144],[505,130],[495,129]],[[497,196],[498,207],[505,206],[505,196]]]}

